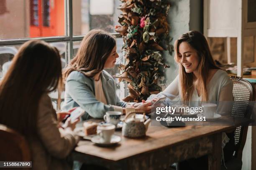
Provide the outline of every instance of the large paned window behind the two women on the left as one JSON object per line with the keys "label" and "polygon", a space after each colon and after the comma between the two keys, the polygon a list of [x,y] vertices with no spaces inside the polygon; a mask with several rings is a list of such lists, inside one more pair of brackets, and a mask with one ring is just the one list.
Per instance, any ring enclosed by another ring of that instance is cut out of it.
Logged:
{"label": "large paned window behind the two women on the left", "polygon": [[[2,0],[0,7],[0,78],[5,67],[24,42],[41,39],[57,47],[66,65],[77,53],[79,44],[88,31],[98,28],[118,35],[119,0]],[[119,59],[113,77],[119,73],[123,41],[117,38]],[[119,90],[117,90],[119,95]],[[53,101],[54,96],[51,96]]]}

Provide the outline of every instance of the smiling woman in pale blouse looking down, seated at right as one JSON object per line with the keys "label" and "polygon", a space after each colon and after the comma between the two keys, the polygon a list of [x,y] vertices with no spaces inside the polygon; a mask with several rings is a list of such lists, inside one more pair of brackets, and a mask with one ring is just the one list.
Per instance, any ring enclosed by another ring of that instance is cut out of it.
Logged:
{"label": "smiling woman in pale blouse looking down, seated at right", "polygon": [[[175,41],[174,59],[179,66],[179,75],[163,91],[171,100],[178,98],[185,105],[200,106],[203,102],[216,103],[217,113],[230,115],[233,99],[233,82],[228,74],[217,67],[204,35],[189,31]],[[223,133],[225,161],[233,155],[234,133]],[[228,142],[228,143],[227,143]],[[207,169],[207,157],[180,163],[179,169]]]}

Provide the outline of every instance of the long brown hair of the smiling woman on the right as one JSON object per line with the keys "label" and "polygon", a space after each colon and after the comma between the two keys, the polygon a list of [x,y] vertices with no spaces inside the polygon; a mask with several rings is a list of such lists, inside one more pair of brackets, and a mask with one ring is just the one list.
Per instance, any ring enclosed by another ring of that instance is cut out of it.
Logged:
{"label": "long brown hair of the smiling woman on the right", "polygon": [[182,42],[187,42],[191,47],[193,47],[197,51],[197,55],[199,57],[198,64],[198,73],[200,75],[199,80],[202,82],[202,101],[208,100],[207,93],[207,80],[209,76],[210,69],[220,69],[217,67],[212,59],[212,54],[210,52],[210,48],[208,46],[207,40],[204,35],[202,35],[198,31],[189,31],[183,34],[178,40],[175,42],[175,60],[179,63],[179,82],[180,82],[180,92],[181,92],[181,100],[184,102],[188,102],[195,90],[194,84],[194,75],[193,72],[187,73],[185,68],[182,66],[181,62],[178,59],[179,53],[179,45]]}

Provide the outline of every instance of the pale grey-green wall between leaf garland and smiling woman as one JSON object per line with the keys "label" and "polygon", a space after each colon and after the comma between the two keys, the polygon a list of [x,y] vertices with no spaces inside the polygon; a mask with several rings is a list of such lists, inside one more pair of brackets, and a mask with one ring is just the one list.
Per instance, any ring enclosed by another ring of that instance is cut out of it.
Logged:
{"label": "pale grey-green wall between leaf garland and smiling woman", "polygon": [[[203,30],[203,5],[202,0],[170,0],[168,23],[170,26],[169,35],[173,37],[172,44],[182,34],[189,30]],[[169,55],[164,53],[164,57],[170,68],[166,70],[167,84],[172,82],[178,74],[177,64],[174,61],[174,52]]]}

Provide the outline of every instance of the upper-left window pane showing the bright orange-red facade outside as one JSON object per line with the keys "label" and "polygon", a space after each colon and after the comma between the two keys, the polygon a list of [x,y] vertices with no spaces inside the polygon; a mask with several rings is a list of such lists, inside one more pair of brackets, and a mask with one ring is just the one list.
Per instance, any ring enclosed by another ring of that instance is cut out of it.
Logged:
{"label": "upper-left window pane showing the bright orange-red facade outside", "polygon": [[1,2],[3,3],[0,5],[0,39],[65,35],[64,0]]}

